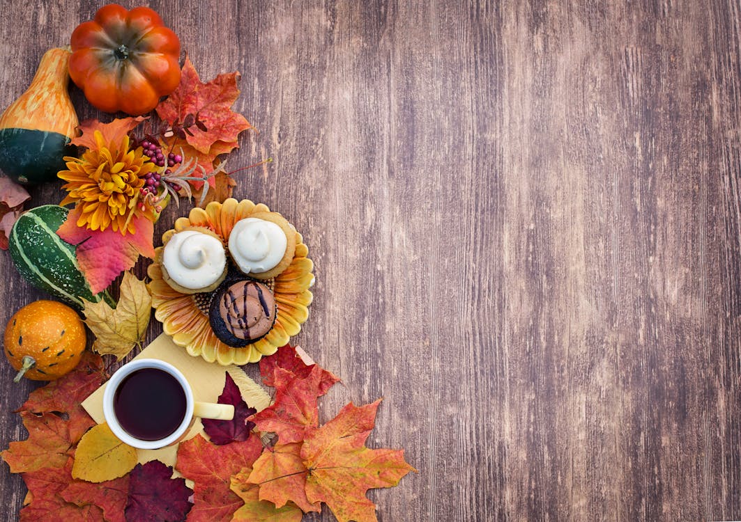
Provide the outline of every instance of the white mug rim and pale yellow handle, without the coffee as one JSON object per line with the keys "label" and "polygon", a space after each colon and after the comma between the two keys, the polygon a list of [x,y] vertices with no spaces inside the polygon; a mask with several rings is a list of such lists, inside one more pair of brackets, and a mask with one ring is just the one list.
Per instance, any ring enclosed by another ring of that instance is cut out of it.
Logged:
{"label": "white mug rim and pale yellow handle, without the coffee", "polygon": [[[155,368],[169,373],[179,382],[185,393],[185,416],[183,416],[182,422],[173,433],[156,441],[144,441],[127,433],[119,423],[118,418],[116,418],[116,411],[113,408],[113,399],[116,397],[116,390],[118,390],[119,385],[127,376],[130,376],[136,370],[142,370],[144,368]],[[185,376],[176,367],[170,365],[169,362],[160,361],[159,359],[136,359],[120,367],[109,379],[103,393],[103,414],[108,427],[110,427],[113,434],[121,441],[142,450],[156,450],[179,441],[187,433],[194,417],[217,418],[229,421],[234,417],[234,407],[231,404],[213,404],[210,402],[194,401],[193,390],[190,388],[190,384],[188,384]]]}

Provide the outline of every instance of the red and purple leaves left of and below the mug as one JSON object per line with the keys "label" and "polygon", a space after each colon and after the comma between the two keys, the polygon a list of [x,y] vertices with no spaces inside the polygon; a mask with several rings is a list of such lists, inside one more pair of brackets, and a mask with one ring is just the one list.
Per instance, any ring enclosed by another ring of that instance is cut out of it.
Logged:
{"label": "red and purple leaves left of and below the mug", "polygon": [[137,464],[127,475],[95,484],[73,478],[78,445],[95,426],[80,403],[106,379],[100,356],[85,352],[80,365],[33,391],[18,413],[28,430],[2,458],[28,488],[21,521],[180,521],[190,489],[161,462]]}

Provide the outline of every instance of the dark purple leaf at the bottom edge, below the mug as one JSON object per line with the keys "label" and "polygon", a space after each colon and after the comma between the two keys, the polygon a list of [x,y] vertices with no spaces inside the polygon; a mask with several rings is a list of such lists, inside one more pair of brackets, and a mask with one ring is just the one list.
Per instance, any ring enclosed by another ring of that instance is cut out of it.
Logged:
{"label": "dark purple leaf at the bottom edge, below the mug", "polygon": [[185,478],[171,478],[173,469],[159,461],[137,464],[128,477],[126,520],[178,522],[190,510],[190,489]]}

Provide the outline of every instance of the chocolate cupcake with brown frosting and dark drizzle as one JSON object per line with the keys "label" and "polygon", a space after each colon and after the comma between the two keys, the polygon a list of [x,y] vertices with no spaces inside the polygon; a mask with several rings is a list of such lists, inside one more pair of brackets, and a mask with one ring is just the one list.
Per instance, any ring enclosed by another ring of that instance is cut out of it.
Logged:
{"label": "chocolate cupcake with brown frosting and dark drizzle", "polygon": [[268,334],[277,312],[273,293],[261,282],[227,280],[213,294],[208,320],[219,340],[242,348]]}

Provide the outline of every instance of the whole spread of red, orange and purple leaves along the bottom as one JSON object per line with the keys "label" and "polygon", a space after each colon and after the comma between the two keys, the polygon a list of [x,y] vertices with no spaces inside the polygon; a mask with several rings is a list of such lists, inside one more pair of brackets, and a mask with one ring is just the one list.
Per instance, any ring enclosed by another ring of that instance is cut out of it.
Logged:
{"label": "whole spread of red, orange and purple leaves along the bottom", "polygon": [[[350,403],[320,425],[318,399],[336,376],[288,345],[263,358],[260,373],[275,388],[270,407],[256,413],[227,373],[219,402],[235,406],[233,420],[205,420],[206,437],[180,444],[176,470],[191,491],[165,464],[133,467],[132,455],[116,453],[125,454],[125,445],[105,445],[107,427],[80,406],[107,379],[100,356],[86,352],[73,373],[30,394],[18,410],[28,438],[1,453],[28,487],[21,521],[298,522],[322,504],[340,522],[376,521],[368,489],[393,487],[413,471],[402,450],[365,447],[380,401]],[[85,447],[87,439],[96,447]],[[106,459],[130,461],[122,468],[130,472],[91,478],[122,464]]]}

